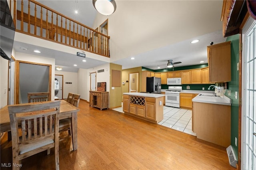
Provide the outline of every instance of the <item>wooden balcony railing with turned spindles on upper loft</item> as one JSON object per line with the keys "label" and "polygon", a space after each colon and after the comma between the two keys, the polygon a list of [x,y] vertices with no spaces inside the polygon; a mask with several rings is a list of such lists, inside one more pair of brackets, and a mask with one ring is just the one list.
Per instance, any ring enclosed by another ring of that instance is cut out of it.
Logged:
{"label": "wooden balcony railing with turned spindles on upper loft", "polygon": [[35,0],[14,0],[10,9],[14,10],[16,32],[110,57],[109,36]]}

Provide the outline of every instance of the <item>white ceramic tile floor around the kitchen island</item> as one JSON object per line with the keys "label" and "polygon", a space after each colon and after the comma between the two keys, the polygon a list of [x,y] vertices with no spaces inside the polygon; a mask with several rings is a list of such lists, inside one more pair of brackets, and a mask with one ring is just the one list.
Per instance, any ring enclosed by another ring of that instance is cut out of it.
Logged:
{"label": "white ceramic tile floor around the kitchen island", "polygon": [[[124,113],[123,107],[113,110]],[[158,125],[196,136],[196,133],[192,132],[192,110],[164,106],[164,119]]]}

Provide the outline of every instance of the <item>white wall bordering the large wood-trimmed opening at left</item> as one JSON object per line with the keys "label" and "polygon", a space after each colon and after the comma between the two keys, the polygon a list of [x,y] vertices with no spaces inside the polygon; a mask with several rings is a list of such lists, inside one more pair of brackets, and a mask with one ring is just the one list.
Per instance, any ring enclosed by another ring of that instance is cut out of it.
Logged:
{"label": "white wall bordering the large wood-trimmed opening at left", "polygon": [[52,96],[51,96],[51,99],[54,100],[55,59],[47,58],[47,57],[41,57],[41,56],[38,56],[38,55],[30,55],[30,54],[26,54],[26,53],[19,53],[19,52],[16,52],[15,59],[20,60],[20,61],[28,61],[28,62],[52,65],[52,89],[51,89],[52,90]]}

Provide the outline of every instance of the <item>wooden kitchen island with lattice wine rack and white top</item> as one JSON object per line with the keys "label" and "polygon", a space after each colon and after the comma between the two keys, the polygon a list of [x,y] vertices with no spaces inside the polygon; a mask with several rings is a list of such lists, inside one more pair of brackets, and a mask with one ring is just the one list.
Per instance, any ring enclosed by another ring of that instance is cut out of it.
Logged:
{"label": "wooden kitchen island with lattice wine rack and white top", "polygon": [[156,93],[123,93],[124,114],[159,123],[164,117],[164,97]]}

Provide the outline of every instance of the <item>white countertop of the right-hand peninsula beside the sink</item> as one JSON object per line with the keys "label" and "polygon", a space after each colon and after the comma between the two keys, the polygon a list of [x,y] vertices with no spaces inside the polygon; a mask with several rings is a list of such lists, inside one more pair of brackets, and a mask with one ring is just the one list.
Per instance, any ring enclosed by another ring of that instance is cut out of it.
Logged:
{"label": "white countertop of the right-hand peninsula beside the sink", "polygon": [[[202,94],[202,93],[201,93]],[[217,104],[217,105],[231,105],[231,99],[226,97],[210,97],[210,96],[199,96],[197,95],[192,99],[193,102],[200,102],[200,103],[210,103],[210,104]]]}

